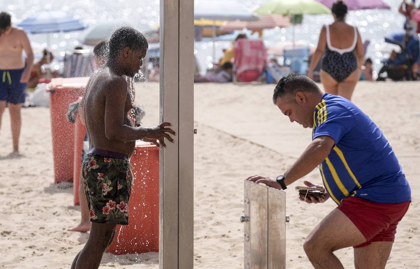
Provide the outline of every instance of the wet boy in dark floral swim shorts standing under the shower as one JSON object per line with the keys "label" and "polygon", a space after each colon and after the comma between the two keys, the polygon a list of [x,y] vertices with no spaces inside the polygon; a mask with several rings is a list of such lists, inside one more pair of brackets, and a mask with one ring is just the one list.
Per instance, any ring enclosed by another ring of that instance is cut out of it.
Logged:
{"label": "wet boy in dark floral swim shorts standing under the shower", "polygon": [[133,105],[125,76],[133,78],[143,64],[148,48],[144,35],[131,27],[121,27],[112,34],[108,47],[107,63],[89,79],[81,101],[90,146],[81,167],[81,180],[92,225],[89,239],[71,269],[98,268],[116,225],[128,225],[134,180],[129,158],[136,140],[166,147],[164,138],[173,143],[170,134],[176,135],[168,127],[170,123],[133,127],[128,115]]}

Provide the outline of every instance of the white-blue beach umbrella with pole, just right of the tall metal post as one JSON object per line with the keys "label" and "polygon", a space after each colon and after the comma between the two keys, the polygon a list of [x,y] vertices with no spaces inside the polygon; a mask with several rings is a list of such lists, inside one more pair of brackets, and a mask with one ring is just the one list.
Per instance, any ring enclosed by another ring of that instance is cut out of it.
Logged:
{"label": "white-blue beach umbrella with pole, just right of the tall metal post", "polygon": [[238,2],[229,0],[196,0],[194,1],[194,19],[214,21],[213,61],[215,61],[216,21],[257,21],[260,19],[260,16]]}

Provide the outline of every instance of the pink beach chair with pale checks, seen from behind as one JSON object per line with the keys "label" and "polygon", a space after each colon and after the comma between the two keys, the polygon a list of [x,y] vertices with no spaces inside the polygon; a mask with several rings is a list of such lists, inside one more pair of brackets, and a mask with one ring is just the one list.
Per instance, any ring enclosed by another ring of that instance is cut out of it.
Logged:
{"label": "pink beach chair with pale checks, seen from behind", "polygon": [[267,49],[261,39],[238,39],[234,55],[234,82],[251,82],[261,76],[267,63]]}

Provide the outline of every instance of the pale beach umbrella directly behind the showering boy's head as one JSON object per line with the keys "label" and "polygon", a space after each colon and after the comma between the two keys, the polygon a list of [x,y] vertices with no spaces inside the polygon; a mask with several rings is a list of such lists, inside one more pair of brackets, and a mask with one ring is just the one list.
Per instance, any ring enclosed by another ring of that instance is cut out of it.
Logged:
{"label": "pale beach umbrella directly behind the showering boy's head", "polygon": [[157,30],[152,29],[148,24],[140,24],[138,27],[134,27],[127,21],[116,20],[116,21],[104,21],[95,24],[86,29],[79,38],[80,42],[85,45],[95,46],[101,41],[109,40],[111,34],[118,28],[123,26],[133,27],[144,34],[146,39],[155,33]]}

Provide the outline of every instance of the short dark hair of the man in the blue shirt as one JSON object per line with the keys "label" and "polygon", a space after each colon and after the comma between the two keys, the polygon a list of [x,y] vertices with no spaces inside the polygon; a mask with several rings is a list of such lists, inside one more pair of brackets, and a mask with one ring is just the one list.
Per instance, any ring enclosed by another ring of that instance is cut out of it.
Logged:
{"label": "short dark hair of the man in the blue shirt", "polygon": [[273,103],[276,104],[277,97],[285,99],[287,102],[294,102],[298,91],[316,93],[319,90],[315,82],[307,76],[289,74],[278,81],[274,89]]}

